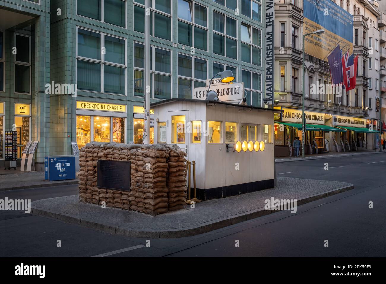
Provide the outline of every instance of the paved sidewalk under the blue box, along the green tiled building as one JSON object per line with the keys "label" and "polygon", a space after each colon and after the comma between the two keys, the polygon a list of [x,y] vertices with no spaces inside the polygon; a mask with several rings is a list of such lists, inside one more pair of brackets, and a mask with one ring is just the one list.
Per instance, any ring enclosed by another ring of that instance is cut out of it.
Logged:
{"label": "paved sidewalk under the blue box, along the green tiled building", "polygon": [[0,191],[78,183],[78,172],[76,173],[76,179],[66,181],[46,181],[44,179],[44,172],[21,172],[20,174],[15,174],[12,171],[14,170],[11,170],[9,174],[0,174]]}

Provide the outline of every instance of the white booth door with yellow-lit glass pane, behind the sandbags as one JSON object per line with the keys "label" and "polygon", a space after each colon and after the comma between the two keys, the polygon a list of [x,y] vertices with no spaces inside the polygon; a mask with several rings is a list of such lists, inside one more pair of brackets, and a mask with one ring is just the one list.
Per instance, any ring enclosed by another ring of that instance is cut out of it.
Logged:
{"label": "white booth door with yellow-lit glass pane, behind the sandbags", "polygon": [[168,144],[177,144],[181,150],[188,154],[189,145],[189,111],[168,112]]}

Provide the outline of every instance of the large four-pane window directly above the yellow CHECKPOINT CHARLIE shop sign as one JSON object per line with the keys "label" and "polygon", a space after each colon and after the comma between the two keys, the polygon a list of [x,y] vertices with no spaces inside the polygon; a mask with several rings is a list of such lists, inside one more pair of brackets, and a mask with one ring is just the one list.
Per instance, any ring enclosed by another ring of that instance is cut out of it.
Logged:
{"label": "large four-pane window directly above the yellow CHECKPOINT CHARLIE shop sign", "polygon": [[77,34],[78,90],[126,95],[125,39],[81,28]]}

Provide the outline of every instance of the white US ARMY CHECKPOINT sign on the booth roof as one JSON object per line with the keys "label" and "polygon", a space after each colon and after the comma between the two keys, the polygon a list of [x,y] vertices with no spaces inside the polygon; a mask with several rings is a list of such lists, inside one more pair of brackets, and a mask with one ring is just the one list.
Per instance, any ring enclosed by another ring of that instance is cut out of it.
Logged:
{"label": "white US ARMY CHECKPOINT sign on the booth roof", "polygon": [[[234,101],[243,98],[243,83],[210,85],[210,91],[215,91],[220,101]],[[206,100],[208,87],[194,88],[193,100]]]}

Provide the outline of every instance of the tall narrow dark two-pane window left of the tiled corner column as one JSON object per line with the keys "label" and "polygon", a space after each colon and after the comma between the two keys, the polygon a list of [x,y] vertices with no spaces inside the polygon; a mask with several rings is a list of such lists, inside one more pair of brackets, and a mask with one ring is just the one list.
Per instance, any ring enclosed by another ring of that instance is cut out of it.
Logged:
{"label": "tall narrow dark two-pane window left of the tiled corner column", "polygon": [[[15,93],[30,94],[31,89],[31,37],[15,34]],[[4,73],[4,63],[2,64]],[[2,79],[3,74],[0,74]],[[4,83],[3,83],[4,88]]]}

